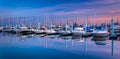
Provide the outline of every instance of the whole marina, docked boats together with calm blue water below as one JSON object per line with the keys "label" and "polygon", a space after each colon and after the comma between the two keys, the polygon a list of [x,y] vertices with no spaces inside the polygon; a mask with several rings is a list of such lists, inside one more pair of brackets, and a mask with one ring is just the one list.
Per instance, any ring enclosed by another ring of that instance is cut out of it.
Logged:
{"label": "whole marina, docked boats together with calm blue water below", "polygon": [[116,28],[114,19],[111,19],[111,26],[107,26],[106,29],[101,29],[99,26],[88,27],[87,21],[84,22],[84,26],[70,25],[53,26],[51,22],[48,27],[40,25],[1,27],[0,48],[3,53],[0,57],[3,59],[119,58],[120,52],[117,51],[120,48],[120,38],[116,33],[119,33],[120,25]]}

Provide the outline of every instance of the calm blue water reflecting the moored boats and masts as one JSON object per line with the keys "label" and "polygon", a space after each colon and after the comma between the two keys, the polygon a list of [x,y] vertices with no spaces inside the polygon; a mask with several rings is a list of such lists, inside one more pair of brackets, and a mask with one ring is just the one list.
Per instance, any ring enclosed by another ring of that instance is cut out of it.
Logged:
{"label": "calm blue water reflecting the moored boats and masts", "polygon": [[[113,44],[112,44],[113,42]],[[99,43],[101,45],[98,45]],[[120,40],[0,34],[0,59],[119,59]]]}

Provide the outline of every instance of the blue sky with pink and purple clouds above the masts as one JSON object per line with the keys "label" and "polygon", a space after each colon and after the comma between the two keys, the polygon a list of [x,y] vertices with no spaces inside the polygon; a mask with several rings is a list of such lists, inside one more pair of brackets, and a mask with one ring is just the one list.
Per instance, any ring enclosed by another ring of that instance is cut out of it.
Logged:
{"label": "blue sky with pink and purple clouds above the masts", "polygon": [[109,21],[119,19],[120,0],[0,0],[1,17],[77,17]]}

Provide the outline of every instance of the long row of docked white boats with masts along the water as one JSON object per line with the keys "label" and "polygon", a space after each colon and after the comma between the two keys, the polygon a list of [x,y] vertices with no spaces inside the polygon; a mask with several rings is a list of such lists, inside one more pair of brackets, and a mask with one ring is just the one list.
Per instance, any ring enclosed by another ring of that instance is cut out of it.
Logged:
{"label": "long row of docked white boats with masts along the water", "polygon": [[[10,21],[9,21],[10,22]],[[66,20],[66,22],[62,25],[59,24],[53,24],[51,21],[48,23],[49,26],[46,26],[46,23],[43,23],[44,25],[40,25],[40,22],[37,23],[37,26],[31,26],[25,25],[25,23],[22,23],[22,25],[13,25],[8,26],[9,24],[6,24],[6,26],[0,27],[1,33],[6,34],[15,34],[15,35],[61,35],[61,36],[82,36],[82,37],[108,37],[109,38],[117,38],[120,36],[120,24],[117,23],[117,25],[114,22],[114,19],[111,19],[110,24],[102,25],[88,25],[88,20],[85,20],[83,24],[74,23]],[[109,25],[109,26],[108,26]]]}

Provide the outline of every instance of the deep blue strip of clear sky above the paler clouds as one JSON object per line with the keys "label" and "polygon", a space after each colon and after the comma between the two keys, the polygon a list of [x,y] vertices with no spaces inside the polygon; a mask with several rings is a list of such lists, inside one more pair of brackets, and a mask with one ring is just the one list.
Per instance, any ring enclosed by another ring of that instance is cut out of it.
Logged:
{"label": "deep blue strip of clear sky above the paler clouds", "polygon": [[[58,4],[85,2],[90,0],[0,0],[2,8],[43,8]],[[91,0],[92,1],[92,0]]]}

